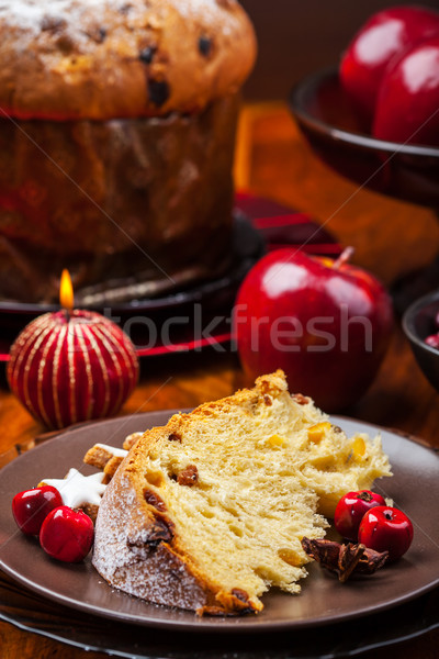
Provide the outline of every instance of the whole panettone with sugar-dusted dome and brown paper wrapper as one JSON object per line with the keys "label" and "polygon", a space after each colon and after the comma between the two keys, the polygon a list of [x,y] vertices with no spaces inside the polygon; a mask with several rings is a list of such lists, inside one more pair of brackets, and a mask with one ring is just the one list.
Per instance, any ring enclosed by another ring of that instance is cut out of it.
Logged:
{"label": "whole panettone with sugar-dusted dome and brown paper wrapper", "polygon": [[0,299],[223,272],[255,54],[235,0],[0,2]]}

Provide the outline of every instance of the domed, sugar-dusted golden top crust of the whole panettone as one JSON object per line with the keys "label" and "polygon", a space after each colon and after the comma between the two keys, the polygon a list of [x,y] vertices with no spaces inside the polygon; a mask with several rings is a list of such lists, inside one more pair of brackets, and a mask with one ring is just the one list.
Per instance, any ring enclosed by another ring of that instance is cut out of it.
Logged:
{"label": "domed, sugar-dusted golden top crust of the whole panettone", "polygon": [[235,93],[256,37],[236,0],[0,0],[0,112],[192,113]]}

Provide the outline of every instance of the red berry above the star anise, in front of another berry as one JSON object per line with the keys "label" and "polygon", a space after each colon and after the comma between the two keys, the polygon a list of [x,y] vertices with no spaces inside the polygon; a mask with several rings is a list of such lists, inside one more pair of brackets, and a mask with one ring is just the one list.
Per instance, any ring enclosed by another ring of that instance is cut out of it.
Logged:
{"label": "red berry above the star anise, in front of another berry", "polygon": [[358,540],[376,551],[389,551],[389,560],[405,554],[413,540],[413,524],[405,513],[380,505],[361,520]]}

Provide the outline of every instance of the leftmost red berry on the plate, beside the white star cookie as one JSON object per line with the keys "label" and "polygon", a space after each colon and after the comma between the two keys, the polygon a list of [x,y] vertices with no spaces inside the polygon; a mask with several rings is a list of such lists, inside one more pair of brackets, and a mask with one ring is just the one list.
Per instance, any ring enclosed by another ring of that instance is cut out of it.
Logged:
{"label": "leftmost red berry on the plate, beside the white star cookie", "polygon": [[12,500],[12,514],[19,528],[26,535],[38,535],[50,511],[63,505],[56,488],[42,485],[19,492]]}

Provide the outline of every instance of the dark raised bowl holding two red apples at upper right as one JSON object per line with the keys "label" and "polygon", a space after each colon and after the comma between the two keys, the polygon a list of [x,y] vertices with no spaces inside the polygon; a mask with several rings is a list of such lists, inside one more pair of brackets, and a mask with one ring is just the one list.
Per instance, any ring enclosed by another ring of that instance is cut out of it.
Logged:
{"label": "dark raised bowl holding two red apples at upper right", "polygon": [[290,108],[312,148],[333,169],[361,187],[439,209],[439,148],[368,135],[336,68],[299,82]]}

